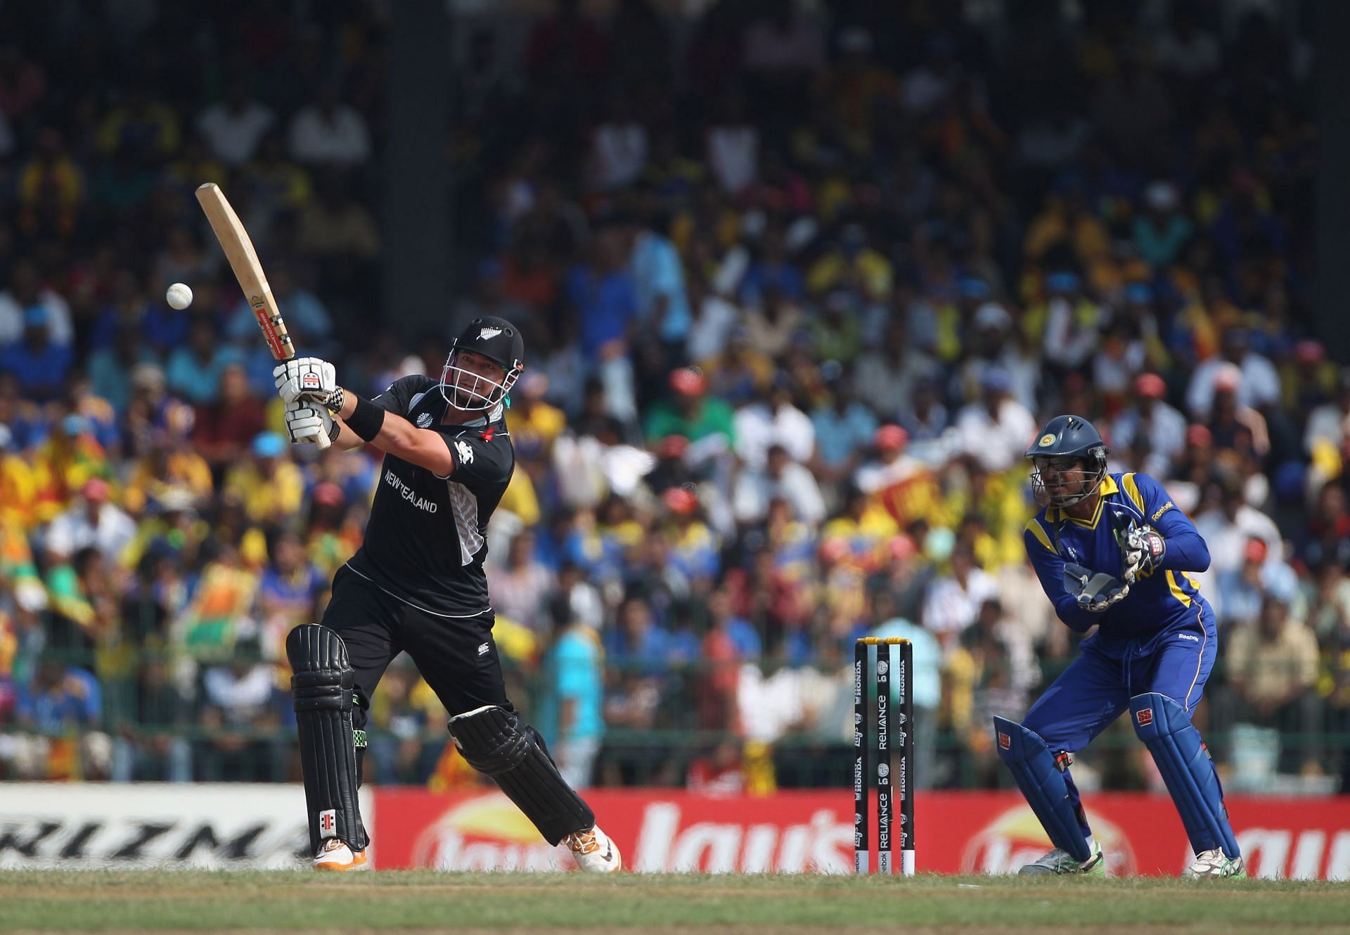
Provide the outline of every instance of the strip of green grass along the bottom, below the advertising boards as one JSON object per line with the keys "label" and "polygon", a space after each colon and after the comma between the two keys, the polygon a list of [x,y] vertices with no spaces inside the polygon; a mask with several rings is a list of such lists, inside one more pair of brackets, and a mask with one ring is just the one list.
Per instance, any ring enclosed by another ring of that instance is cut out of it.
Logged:
{"label": "strip of green grass along the bottom, below the advertising boards", "polygon": [[0,873],[0,931],[1350,932],[1350,885],[1008,877]]}

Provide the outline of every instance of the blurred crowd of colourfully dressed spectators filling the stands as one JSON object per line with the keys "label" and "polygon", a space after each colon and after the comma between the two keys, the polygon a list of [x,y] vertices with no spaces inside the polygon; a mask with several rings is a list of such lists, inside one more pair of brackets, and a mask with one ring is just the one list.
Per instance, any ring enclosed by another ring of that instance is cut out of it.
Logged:
{"label": "blurred crowd of colourfully dressed spectators filling the stands", "polygon": [[[344,385],[439,373],[478,313],[522,328],[489,584],[579,784],[842,784],[868,634],[914,640],[921,784],[1003,781],[988,716],[1075,653],[1022,545],[1022,451],[1075,412],[1210,543],[1216,757],[1338,788],[1350,369],[1312,328],[1311,5],[1004,5],[466,18],[464,285],[416,346],[374,300],[381,4],[34,14],[0,49],[0,773],[294,777],[281,640],[378,463],[277,434],[192,199],[216,180]],[[416,672],[373,713],[373,778],[463,781]]]}

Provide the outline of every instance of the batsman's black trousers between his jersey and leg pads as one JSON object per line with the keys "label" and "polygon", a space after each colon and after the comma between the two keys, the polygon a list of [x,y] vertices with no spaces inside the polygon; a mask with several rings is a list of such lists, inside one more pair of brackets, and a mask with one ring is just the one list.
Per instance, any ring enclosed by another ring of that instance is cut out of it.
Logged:
{"label": "batsman's black trousers between his jersey and leg pads", "polygon": [[385,669],[406,650],[451,716],[495,704],[512,711],[493,639],[495,615],[443,617],[402,603],[343,565],[320,623],[338,631],[356,670],[362,704],[352,727],[366,728],[370,697]]}

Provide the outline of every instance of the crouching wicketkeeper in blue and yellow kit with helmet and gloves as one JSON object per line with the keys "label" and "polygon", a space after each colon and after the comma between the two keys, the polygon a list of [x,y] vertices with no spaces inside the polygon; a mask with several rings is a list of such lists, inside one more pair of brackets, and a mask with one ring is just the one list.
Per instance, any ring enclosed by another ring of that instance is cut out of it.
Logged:
{"label": "crouching wicketkeeper in blue and yellow kit with helmet and gloves", "polygon": [[1189,574],[1210,566],[1210,550],[1156,480],[1107,474],[1107,451],[1079,416],[1052,419],[1026,451],[1044,504],[1026,524],[1027,554],[1060,619],[1098,631],[1023,723],[994,719],[999,755],[1054,844],[1019,873],[1106,874],[1071,754],[1129,711],[1191,839],[1185,876],[1243,877],[1219,777],[1191,724],[1218,649],[1214,611]]}

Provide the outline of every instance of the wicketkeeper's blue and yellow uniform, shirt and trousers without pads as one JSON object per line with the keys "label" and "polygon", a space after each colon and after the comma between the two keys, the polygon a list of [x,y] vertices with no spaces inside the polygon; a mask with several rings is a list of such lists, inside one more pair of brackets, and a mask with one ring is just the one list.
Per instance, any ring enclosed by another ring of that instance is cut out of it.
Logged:
{"label": "wicketkeeper's blue and yellow uniform, shirt and trousers without pads", "polygon": [[[1060,619],[1076,632],[1099,624],[1023,722],[1052,751],[1081,750],[1143,692],[1174,699],[1189,713],[1218,650],[1214,609],[1189,574],[1210,567],[1210,550],[1189,517],[1148,474],[1108,474],[1100,493],[1091,520],[1048,507],[1023,534]],[[1125,555],[1116,536],[1123,538],[1131,522],[1152,526],[1166,540],[1162,563],[1137,577],[1119,604],[1100,613],[1083,609],[1064,589],[1065,562],[1119,577]]]}

